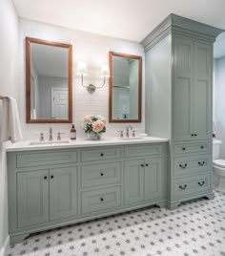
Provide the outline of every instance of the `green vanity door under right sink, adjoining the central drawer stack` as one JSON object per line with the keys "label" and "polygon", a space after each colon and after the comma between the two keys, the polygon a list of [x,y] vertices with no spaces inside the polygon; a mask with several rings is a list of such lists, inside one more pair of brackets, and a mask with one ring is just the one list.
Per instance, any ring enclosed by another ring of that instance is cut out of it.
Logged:
{"label": "green vanity door under right sink, adjoining the central drawer stack", "polygon": [[125,204],[144,200],[144,160],[125,161]]}

